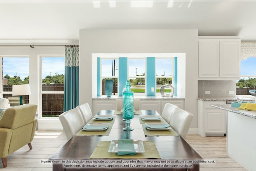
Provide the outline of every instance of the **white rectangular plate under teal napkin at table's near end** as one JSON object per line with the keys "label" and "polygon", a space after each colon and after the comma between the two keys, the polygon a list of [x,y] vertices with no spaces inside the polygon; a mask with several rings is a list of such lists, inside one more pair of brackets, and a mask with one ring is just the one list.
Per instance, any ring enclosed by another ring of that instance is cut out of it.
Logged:
{"label": "white rectangular plate under teal napkin at table's near end", "polygon": [[[145,152],[142,140],[133,140],[133,143],[134,143],[134,149],[135,149],[136,153],[144,153]],[[118,140],[112,140],[110,142],[108,152],[117,153],[117,151],[118,151]]]}

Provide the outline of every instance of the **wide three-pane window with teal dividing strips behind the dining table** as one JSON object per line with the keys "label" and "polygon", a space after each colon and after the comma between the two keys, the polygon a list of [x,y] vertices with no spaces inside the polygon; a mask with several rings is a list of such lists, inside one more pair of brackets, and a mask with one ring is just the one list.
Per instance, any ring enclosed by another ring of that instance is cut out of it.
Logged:
{"label": "wide three-pane window with teal dividing strips behind the dining table", "polygon": [[[162,85],[168,84],[169,81],[174,85],[174,57],[152,58],[145,56],[112,59],[98,57],[98,65],[100,66],[98,70],[98,73],[100,73],[98,74],[98,84],[101,85],[98,88],[100,89],[100,91],[98,90],[100,96],[105,95],[104,82],[106,80],[113,80],[112,95],[116,96],[122,95],[124,88],[118,87],[118,80],[121,80],[120,85],[126,79],[129,80],[134,96],[160,96]],[[154,87],[156,88],[154,89]],[[171,89],[165,89],[165,91],[170,92]]]}

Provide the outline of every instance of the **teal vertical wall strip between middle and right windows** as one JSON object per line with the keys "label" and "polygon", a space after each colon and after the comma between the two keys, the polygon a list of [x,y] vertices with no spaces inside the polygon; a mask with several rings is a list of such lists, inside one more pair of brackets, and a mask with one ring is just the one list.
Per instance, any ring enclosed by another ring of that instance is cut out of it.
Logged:
{"label": "teal vertical wall strip between middle and right windows", "polygon": [[[147,57],[147,96],[156,96],[156,58]],[[154,92],[151,91],[154,87]]]}

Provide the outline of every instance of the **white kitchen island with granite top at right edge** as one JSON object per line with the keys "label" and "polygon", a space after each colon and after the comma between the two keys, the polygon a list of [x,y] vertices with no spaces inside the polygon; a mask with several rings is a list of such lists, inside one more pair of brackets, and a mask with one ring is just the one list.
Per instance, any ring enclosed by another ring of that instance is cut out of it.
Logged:
{"label": "white kitchen island with granite top at right edge", "polygon": [[255,171],[256,111],[240,110],[231,105],[210,106],[226,111],[228,156],[249,171]]}

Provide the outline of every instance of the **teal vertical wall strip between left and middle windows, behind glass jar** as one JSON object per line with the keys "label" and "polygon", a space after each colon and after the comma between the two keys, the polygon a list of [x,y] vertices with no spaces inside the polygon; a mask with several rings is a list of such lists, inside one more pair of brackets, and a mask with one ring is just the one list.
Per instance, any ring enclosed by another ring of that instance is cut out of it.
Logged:
{"label": "teal vertical wall strip between left and middle windows, behind glass jar", "polygon": [[[122,67],[120,67],[122,66]],[[119,96],[123,95],[123,89],[127,81],[127,58],[119,58]]]}

